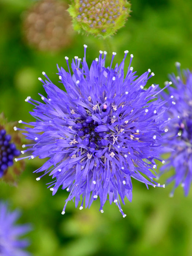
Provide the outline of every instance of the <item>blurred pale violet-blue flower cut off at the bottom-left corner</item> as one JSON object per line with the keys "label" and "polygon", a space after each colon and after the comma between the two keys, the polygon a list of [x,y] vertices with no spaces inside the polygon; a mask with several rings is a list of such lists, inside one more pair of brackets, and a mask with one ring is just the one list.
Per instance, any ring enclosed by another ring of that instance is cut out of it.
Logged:
{"label": "blurred pale violet-blue flower cut off at the bottom-left corner", "polygon": [[30,225],[16,225],[20,217],[19,211],[9,211],[7,203],[0,202],[0,255],[2,256],[29,256],[23,251],[29,241],[20,237],[28,233]]}

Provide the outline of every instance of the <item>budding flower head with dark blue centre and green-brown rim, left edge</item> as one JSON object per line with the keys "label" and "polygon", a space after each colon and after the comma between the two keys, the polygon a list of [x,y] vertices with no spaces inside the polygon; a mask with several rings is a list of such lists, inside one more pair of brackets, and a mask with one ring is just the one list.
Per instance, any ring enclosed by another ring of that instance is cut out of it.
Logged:
{"label": "budding flower head with dark blue centre and green-brown rim, left edge", "polygon": [[11,184],[25,167],[23,161],[15,163],[14,158],[21,154],[18,149],[21,146],[21,134],[14,129],[16,123],[8,123],[4,114],[0,114],[0,181]]}

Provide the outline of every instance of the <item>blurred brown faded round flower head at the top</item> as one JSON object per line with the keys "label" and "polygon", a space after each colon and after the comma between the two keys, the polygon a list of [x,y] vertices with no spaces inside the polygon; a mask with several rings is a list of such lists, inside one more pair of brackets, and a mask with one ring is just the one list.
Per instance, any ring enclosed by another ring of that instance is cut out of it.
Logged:
{"label": "blurred brown faded round flower head at the top", "polygon": [[71,44],[71,17],[63,1],[37,1],[23,16],[23,31],[29,45],[43,51],[58,51]]}

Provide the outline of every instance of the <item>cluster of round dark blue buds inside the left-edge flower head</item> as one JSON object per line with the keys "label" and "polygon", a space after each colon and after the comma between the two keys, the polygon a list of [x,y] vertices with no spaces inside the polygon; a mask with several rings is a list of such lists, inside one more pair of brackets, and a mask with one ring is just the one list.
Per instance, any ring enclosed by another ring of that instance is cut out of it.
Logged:
{"label": "cluster of round dark blue buds inside the left-edge flower head", "polygon": [[13,158],[20,155],[14,143],[10,143],[11,135],[6,134],[5,129],[0,130],[0,177],[5,170],[13,165]]}

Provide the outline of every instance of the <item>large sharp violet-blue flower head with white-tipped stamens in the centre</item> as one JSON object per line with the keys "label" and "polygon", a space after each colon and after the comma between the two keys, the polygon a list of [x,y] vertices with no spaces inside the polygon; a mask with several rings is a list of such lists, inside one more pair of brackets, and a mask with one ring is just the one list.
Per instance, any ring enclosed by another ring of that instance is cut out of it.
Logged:
{"label": "large sharp violet-blue flower head with white-tipped stamens in the centre", "polygon": [[[75,199],[80,210],[91,206],[100,199],[101,208],[107,199],[116,203],[125,217],[120,205],[124,198],[132,200],[131,177],[153,187],[161,186],[153,180],[156,176],[155,159],[161,151],[162,133],[165,122],[162,115],[166,111],[164,101],[157,98],[158,86],[152,84],[144,89],[150,69],[137,77],[131,67],[124,74],[124,59],[112,68],[113,52],[109,67],[105,67],[106,52],[100,51],[89,68],[84,58],[75,56],[72,72],[68,57],[65,57],[68,72],[58,67],[60,83],[64,90],[54,85],[45,72],[42,82],[46,97],[42,102],[28,97],[27,102],[35,106],[30,114],[36,118],[26,128],[27,139],[34,140],[28,158],[46,158],[37,173],[49,173],[54,181],[49,184],[53,195],[61,186],[67,189],[69,200]],[[103,55],[104,56],[103,56]],[[103,57],[102,57],[103,56]],[[124,77],[125,75],[125,77]],[[22,159],[22,158],[20,158]],[[63,214],[65,213],[65,207]]]}

